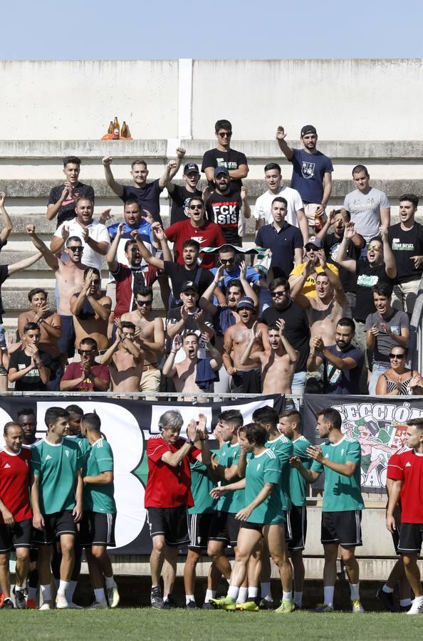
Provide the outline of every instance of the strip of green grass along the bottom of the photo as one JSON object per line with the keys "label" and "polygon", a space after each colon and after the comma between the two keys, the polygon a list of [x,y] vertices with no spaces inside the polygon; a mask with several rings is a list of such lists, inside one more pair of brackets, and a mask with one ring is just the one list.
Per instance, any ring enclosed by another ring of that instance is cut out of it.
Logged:
{"label": "strip of green grass along the bottom of the photo", "polygon": [[422,639],[423,617],[404,614],[296,612],[226,613],[184,610],[157,612],[150,608],[57,612],[3,611],[1,637],[88,640],[234,641],[304,639],[310,641]]}

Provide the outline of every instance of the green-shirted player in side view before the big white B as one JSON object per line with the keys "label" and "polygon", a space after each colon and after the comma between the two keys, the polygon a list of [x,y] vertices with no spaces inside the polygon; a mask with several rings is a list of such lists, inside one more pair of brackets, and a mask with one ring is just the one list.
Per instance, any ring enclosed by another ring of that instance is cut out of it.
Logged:
{"label": "green-shirted player in side view before the big white B", "polygon": [[101,421],[97,414],[84,414],[80,431],[90,443],[83,467],[83,520],[80,525],[80,542],[85,548],[88,570],[93,584],[95,603],[91,608],[116,608],[119,593],[113,578],[113,568],[107,552],[114,548],[116,504],[113,485],[113,452],[100,432]]}

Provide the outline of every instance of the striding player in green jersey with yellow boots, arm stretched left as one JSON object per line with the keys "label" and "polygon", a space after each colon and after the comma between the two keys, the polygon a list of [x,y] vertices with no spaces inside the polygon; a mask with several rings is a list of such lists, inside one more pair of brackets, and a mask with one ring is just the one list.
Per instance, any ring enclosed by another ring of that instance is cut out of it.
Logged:
{"label": "striding player in green jersey with yellow boots, arm stretched left", "polygon": [[[272,449],[266,447],[266,428],[249,423],[239,428],[239,442],[246,454],[253,454],[246,467],[246,477],[211,490],[219,498],[232,490],[245,488],[246,506],[236,514],[241,522],[236,544],[235,563],[226,597],[211,599],[221,610],[235,610],[239,588],[246,578],[249,558],[262,540],[266,542],[273,561],[278,566],[283,588],[283,600],[278,613],[293,612],[292,573],[286,567],[285,517],[281,501],[281,461]],[[288,562],[289,563],[289,562]]]}

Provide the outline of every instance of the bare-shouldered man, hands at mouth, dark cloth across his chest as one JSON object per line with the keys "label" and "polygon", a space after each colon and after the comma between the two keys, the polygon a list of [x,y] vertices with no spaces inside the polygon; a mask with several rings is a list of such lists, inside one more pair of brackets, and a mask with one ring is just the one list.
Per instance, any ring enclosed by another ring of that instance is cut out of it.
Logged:
{"label": "bare-shouldered man, hands at mouth, dark cloth across his chest", "polygon": [[88,267],[84,271],[83,287],[71,298],[75,347],[83,338],[93,338],[101,354],[109,346],[108,321],[112,300],[100,290],[101,276],[98,269]]}

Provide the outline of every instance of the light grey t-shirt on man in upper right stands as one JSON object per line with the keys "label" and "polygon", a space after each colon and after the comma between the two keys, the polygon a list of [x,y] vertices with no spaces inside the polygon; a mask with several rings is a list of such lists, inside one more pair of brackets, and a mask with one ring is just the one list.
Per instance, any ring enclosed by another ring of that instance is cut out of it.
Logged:
{"label": "light grey t-shirt on man in upper right stands", "polygon": [[345,196],[344,207],[351,214],[355,231],[368,241],[372,236],[378,236],[380,228],[380,210],[388,209],[390,202],[387,195],[380,189],[370,187],[367,194],[355,189]]}

